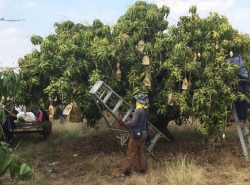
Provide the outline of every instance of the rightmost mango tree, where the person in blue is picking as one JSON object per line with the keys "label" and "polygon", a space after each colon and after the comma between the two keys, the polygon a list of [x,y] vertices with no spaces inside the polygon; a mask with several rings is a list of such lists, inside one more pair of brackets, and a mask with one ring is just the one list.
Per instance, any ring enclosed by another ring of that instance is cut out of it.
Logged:
{"label": "rightmost mango tree, where the person in blue is picking", "polygon": [[[190,16],[181,16],[177,26],[167,32],[174,46],[162,64],[169,75],[156,100],[162,107],[158,111],[167,114],[166,101],[160,97],[173,93],[180,114],[199,118],[199,129],[211,135],[224,130],[232,102],[244,98],[235,93],[239,66],[225,63],[224,59],[238,50],[248,68],[250,42],[247,35],[232,28],[225,16],[210,13],[202,19],[195,6],[189,12]],[[174,82],[181,82],[178,89],[174,89]]]}

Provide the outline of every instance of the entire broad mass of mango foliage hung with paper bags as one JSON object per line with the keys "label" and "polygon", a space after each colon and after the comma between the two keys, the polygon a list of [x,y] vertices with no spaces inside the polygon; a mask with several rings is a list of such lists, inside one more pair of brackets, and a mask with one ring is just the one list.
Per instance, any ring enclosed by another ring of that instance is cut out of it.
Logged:
{"label": "entire broad mass of mango foliage hung with paper bags", "polygon": [[149,119],[165,134],[170,120],[189,116],[200,119],[204,134],[219,132],[232,102],[244,98],[234,90],[239,66],[224,58],[239,50],[248,67],[249,37],[218,13],[200,18],[196,6],[176,26],[168,27],[169,13],[166,6],[137,1],[112,27],[64,21],[55,23],[55,34],[34,35],[40,51],[19,60],[25,98],[76,101],[93,125],[100,114],[88,92],[103,80],[130,103],[147,92]]}

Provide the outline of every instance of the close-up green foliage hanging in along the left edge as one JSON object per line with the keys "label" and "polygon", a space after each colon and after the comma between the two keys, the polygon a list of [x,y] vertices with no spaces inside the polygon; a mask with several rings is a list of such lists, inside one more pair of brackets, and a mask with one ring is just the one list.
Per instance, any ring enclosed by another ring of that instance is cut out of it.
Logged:
{"label": "close-up green foliage hanging in along the left edge", "polygon": [[6,113],[2,103],[7,97],[12,98],[15,102],[19,88],[19,75],[14,69],[6,68],[0,72],[0,177],[9,170],[10,177],[16,182],[31,177],[31,169],[14,154],[14,149],[4,142],[4,133],[1,125],[6,121]]}

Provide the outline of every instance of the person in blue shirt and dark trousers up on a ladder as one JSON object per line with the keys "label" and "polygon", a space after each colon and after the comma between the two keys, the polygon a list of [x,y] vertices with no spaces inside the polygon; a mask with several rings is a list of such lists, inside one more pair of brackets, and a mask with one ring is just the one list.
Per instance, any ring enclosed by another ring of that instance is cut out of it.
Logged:
{"label": "person in blue shirt and dark trousers up on a ladder", "polygon": [[[233,56],[227,56],[225,62],[230,62],[233,65],[239,65],[240,69],[237,72],[237,76],[239,78],[239,83],[237,86],[237,91],[246,95],[247,92],[247,83],[248,83],[248,72],[244,66],[244,62],[242,56],[236,51],[233,53]],[[248,102],[247,100],[238,99],[235,102],[235,109],[237,112],[238,119],[240,121],[245,121],[247,118],[248,112]]]}

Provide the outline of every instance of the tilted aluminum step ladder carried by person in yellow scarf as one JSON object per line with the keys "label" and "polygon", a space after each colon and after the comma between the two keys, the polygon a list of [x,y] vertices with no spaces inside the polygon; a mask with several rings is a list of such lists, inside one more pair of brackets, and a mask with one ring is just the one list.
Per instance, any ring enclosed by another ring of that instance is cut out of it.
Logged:
{"label": "tilted aluminum step ladder carried by person in yellow scarf", "polygon": [[[121,141],[121,145],[124,146],[129,139],[131,131],[125,126],[120,126],[117,121],[122,120],[125,122],[131,120],[134,107],[122,99],[103,81],[97,81],[89,93],[94,99],[105,122],[108,124],[109,128],[116,133],[117,138]],[[151,123],[148,122],[148,126],[150,136],[152,136],[153,139],[150,141],[149,146],[145,148],[155,160],[158,160],[153,154],[153,148],[156,142],[159,138],[170,140]]]}

